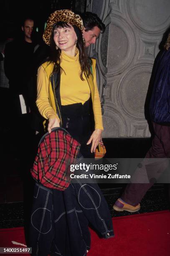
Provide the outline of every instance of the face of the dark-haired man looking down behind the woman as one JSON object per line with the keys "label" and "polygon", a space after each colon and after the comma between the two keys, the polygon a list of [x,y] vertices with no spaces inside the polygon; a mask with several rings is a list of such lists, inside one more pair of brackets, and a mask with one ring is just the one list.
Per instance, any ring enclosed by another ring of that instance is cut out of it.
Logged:
{"label": "face of the dark-haired man looking down behind the woman", "polygon": [[84,28],[83,30],[83,35],[86,41],[85,47],[88,47],[90,44],[96,43],[96,39],[99,37],[99,34],[100,34],[100,28],[95,26],[89,31],[85,31],[85,29],[86,28]]}

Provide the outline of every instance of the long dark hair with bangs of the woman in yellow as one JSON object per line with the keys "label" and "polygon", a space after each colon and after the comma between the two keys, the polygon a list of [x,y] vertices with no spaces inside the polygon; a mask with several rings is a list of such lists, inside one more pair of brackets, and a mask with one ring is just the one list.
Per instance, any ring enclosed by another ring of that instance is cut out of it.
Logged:
{"label": "long dark hair with bangs of the woman in yellow", "polygon": [[[56,28],[66,28],[66,27],[70,28],[71,26],[66,22],[60,21],[60,22],[57,22],[56,24],[54,24],[53,31]],[[81,80],[84,80],[83,73],[86,74],[87,77],[89,77],[89,75],[91,73],[90,72],[91,61],[87,57],[86,52],[85,52],[84,41],[83,41],[83,36],[81,34],[81,30],[78,27],[76,27],[75,25],[73,25],[73,28],[74,28],[74,31],[77,36],[76,47],[79,49],[79,63],[80,63],[80,67],[81,67],[80,78],[81,78]],[[60,67],[61,50],[60,49],[56,50],[56,44],[54,42],[53,36],[54,36],[54,33],[51,34],[51,38],[50,38],[51,54],[49,57],[49,61],[54,64],[53,73],[56,73],[61,69],[61,67]]]}

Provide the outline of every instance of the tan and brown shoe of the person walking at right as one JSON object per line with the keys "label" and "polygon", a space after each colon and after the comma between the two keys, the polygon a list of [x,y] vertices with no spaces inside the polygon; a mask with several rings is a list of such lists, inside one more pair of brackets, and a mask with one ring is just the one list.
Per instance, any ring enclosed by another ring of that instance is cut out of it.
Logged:
{"label": "tan and brown shoe of the person walking at right", "polygon": [[113,209],[118,212],[122,212],[122,211],[137,212],[140,210],[140,204],[138,204],[137,206],[132,206],[124,202],[121,198],[118,198],[113,205]]}

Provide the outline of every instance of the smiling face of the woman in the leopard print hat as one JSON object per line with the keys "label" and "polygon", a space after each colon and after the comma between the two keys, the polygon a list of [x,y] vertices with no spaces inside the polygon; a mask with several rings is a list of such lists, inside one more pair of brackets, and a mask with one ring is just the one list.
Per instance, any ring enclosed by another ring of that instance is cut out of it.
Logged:
{"label": "smiling face of the woman in the leopard print hat", "polygon": [[54,33],[54,42],[56,46],[63,50],[66,51],[67,54],[74,56],[75,50],[76,50],[76,32],[74,31],[73,26],[68,24],[69,27],[64,27],[64,28],[55,28],[53,33]]}

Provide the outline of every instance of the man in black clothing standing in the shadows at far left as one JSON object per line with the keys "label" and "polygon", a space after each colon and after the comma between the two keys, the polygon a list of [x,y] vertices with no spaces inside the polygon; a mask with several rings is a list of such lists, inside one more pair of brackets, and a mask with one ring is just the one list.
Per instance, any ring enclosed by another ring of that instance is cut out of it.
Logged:
{"label": "man in black clothing standing in the shadows at far left", "polygon": [[[4,69],[9,79],[10,109],[17,123],[23,123],[23,113],[26,125],[35,131],[41,129],[41,116],[36,107],[35,77],[38,65],[36,51],[39,48],[39,35],[35,31],[35,21],[31,16],[23,19],[21,34],[5,46]],[[18,75],[16,75],[18,74]],[[23,95],[26,105],[24,112],[20,104]]]}

